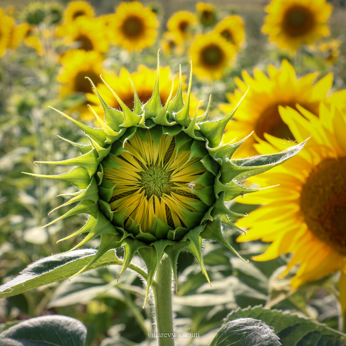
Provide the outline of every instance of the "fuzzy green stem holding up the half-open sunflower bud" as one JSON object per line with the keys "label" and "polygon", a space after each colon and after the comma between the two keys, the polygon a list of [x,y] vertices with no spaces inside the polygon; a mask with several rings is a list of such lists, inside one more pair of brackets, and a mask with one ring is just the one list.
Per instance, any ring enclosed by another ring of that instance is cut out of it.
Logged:
{"label": "fuzzy green stem holding up the half-open sunflower bud", "polygon": [[[158,266],[155,281],[153,282],[153,292],[156,313],[156,328],[159,346],[174,346],[173,331],[173,311],[172,311],[172,265],[168,257],[162,259]],[[169,336],[162,336],[162,334]]]}

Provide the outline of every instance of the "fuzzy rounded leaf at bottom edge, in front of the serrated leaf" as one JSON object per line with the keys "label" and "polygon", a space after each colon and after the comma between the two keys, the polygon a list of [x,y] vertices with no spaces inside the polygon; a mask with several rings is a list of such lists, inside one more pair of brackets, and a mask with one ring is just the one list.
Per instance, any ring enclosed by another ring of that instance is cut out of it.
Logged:
{"label": "fuzzy rounded leaf at bottom edge, in front of the serrated leaf", "polygon": [[238,318],[227,322],[209,346],[280,346],[273,330],[260,320]]}

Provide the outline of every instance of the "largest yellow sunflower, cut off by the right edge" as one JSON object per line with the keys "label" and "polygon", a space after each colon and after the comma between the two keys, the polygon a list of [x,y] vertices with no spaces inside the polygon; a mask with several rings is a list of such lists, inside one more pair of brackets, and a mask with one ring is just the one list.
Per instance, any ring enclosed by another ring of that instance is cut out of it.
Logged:
{"label": "largest yellow sunflower, cut off by the right edge", "polygon": [[[272,242],[267,251],[254,257],[267,261],[293,253],[282,276],[300,263],[291,280],[292,289],[318,280],[338,270],[340,302],[346,309],[346,114],[332,104],[320,106],[320,117],[297,106],[280,107],[280,115],[297,140],[311,136],[302,152],[274,168],[270,173],[251,179],[256,184],[280,184],[241,203],[265,204],[237,222],[249,228],[239,242],[262,239]],[[294,143],[265,135],[256,149],[268,154]],[[263,227],[264,222],[271,227]]]}

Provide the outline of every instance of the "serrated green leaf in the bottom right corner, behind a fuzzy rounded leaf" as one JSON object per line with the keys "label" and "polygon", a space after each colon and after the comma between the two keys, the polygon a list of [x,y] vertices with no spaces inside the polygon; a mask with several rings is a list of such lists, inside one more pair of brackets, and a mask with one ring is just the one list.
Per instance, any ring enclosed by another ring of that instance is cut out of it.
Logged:
{"label": "serrated green leaf in the bottom right corner, behind a fuzzy rounded leaf", "polygon": [[289,312],[264,309],[262,306],[248,307],[230,312],[226,321],[242,317],[260,319],[273,327],[284,346],[346,345],[346,334]]}

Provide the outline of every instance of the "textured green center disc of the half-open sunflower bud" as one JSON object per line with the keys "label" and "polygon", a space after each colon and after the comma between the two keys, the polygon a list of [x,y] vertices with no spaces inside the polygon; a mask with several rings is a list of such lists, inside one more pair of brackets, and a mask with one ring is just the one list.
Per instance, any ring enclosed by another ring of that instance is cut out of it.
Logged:
{"label": "textured green center disc of the half-open sunflower bud", "polygon": [[139,185],[144,188],[148,198],[155,195],[161,197],[164,193],[169,194],[171,190],[171,172],[167,172],[162,166],[150,165],[143,172],[139,173],[141,177]]}

